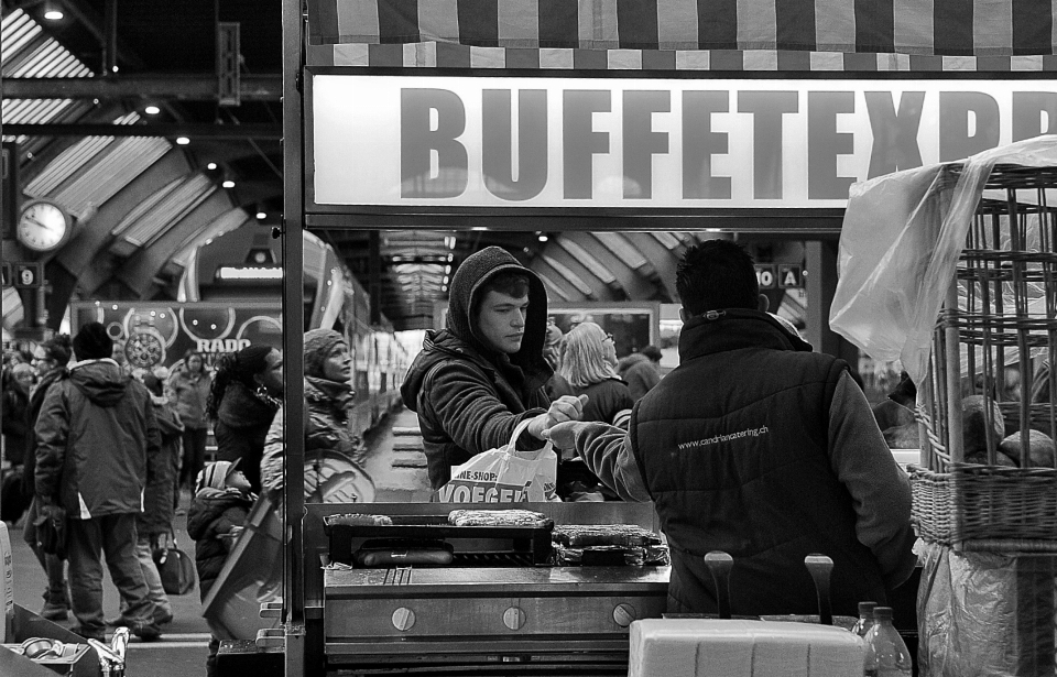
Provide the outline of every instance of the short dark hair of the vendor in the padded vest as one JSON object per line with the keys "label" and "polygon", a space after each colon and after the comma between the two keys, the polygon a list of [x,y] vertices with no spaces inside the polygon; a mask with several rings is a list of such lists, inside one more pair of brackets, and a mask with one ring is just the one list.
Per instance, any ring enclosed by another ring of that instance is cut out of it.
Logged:
{"label": "short dark hair of the vendor in the padded vest", "polygon": [[686,250],[676,270],[675,288],[690,317],[708,310],[759,307],[760,285],[752,256],[731,240],[707,240]]}

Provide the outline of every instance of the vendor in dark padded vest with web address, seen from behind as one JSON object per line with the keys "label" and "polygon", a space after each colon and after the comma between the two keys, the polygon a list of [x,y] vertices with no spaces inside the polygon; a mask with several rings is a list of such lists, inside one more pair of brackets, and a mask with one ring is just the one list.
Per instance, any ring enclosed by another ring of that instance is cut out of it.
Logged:
{"label": "vendor in dark padded vest with web address, seen from behind", "polygon": [[672,612],[717,611],[710,550],[733,557],[733,613],[815,613],[804,558],[816,553],[835,564],[833,613],[891,602],[916,563],[909,483],[848,364],[767,315],[733,242],[687,250],[676,286],[680,364],[636,404],[628,433],[560,424],[551,439],[621,498],[654,501]]}

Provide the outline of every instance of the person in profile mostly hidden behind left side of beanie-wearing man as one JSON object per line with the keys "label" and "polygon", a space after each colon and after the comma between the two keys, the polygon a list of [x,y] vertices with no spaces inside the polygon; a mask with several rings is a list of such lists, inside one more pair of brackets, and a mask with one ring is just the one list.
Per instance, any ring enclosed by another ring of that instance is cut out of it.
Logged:
{"label": "person in profile mostly hidden behind left side of beanie-wearing man", "polygon": [[56,335],[33,351],[33,367],[36,368],[36,387],[30,393],[30,403],[25,411],[25,448],[22,463],[22,492],[32,499],[25,516],[22,537],[36,555],[37,561],[47,574],[47,589],[44,592],[44,608],[41,616],[48,621],[65,621],[69,618],[69,593],[66,586],[66,564],[52,553],[45,553],[36,542],[36,517],[41,502],[36,498],[33,476],[36,473],[36,433],[34,426],[44,405],[44,395],[52,384],[66,378],[66,365],[73,357],[73,343],[68,334]]}

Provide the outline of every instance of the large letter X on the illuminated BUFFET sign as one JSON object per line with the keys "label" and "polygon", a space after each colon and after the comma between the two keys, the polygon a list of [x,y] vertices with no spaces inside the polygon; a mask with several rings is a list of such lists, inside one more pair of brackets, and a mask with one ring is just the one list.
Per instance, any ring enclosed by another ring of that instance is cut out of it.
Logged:
{"label": "large letter X on the illuminated BUFFET sign", "polygon": [[867,91],[867,111],[873,130],[870,172],[867,178],[922,166],[917,131],[922,127],[924,91],[904,91],[895,112],[891,91]]}

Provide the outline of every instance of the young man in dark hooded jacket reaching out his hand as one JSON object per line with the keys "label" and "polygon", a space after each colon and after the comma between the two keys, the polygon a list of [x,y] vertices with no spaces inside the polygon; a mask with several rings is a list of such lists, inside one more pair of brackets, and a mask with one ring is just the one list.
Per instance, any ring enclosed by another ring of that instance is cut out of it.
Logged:
{"label": "young man in dark hooded jacket reaching out his hand", "polygon": [[418,414],[433,489],[451,467],[510,441],[532,419],[517,447],[541,447],[555,423],[577,421],[582,403],[553,403],[544,385],[554,371],[543,356],[547,294],[535,273],[499,247],[466,259],[451,279],[445,329],[428,331],[400,389]]}

